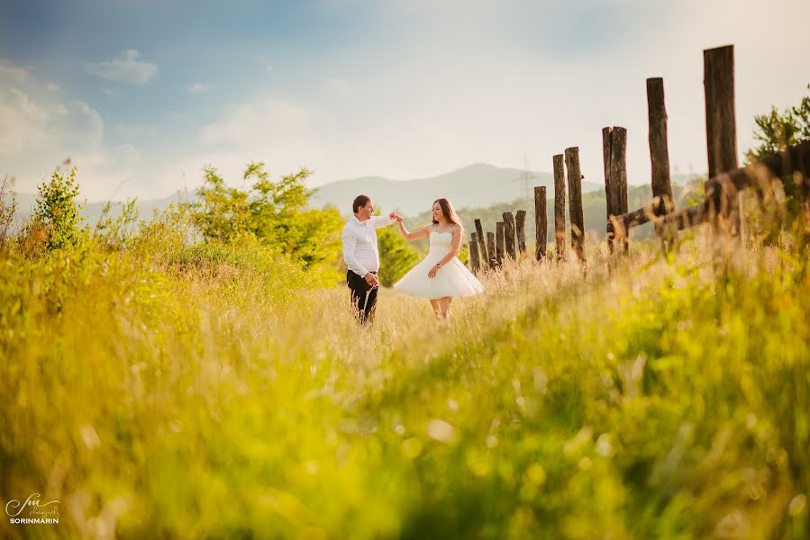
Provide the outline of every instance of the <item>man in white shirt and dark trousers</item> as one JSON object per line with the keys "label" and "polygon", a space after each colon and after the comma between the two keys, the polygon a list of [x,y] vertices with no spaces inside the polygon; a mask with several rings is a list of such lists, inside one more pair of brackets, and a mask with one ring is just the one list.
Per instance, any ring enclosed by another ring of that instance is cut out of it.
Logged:
{"label": "man in white shirt and dark trousers", "polygon": [[343,260],[349,271],[346,284],[351,291],[351,312],[360,323],[373,320],[379,290],[379,249],[377,229],[396,223],[396,213],[388,217],[375,216],[374,203],[366,195],[358,195],[351,203],[352,217],[341,234]]}

